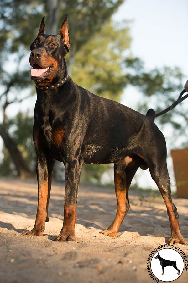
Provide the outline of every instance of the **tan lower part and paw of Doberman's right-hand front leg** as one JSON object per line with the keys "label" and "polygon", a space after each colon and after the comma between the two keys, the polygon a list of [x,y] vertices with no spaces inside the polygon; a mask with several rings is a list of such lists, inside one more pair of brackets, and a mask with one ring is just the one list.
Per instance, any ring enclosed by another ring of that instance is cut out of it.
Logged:
{"label": "tan lower part and paw of Doberman's right-hand front leg", "polygon": [[69,205],[64,207],[63,228],[59,236],[54,241],[65,242],[75,241],[75,224],[77,220],[76,205]]}

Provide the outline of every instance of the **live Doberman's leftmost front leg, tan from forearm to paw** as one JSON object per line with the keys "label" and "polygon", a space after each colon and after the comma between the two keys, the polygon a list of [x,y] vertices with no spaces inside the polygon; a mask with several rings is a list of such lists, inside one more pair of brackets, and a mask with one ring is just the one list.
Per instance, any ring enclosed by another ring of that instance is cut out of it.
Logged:
{"label": "live Doberman's leftmost front leg, tan from forearm to paw", "polygon": [[22,235],[42,236],[45,221],[48,222],[48,203],[50,198],[54,159],[45,153],[37,154],[38,206],[35,225],[29,232]]}

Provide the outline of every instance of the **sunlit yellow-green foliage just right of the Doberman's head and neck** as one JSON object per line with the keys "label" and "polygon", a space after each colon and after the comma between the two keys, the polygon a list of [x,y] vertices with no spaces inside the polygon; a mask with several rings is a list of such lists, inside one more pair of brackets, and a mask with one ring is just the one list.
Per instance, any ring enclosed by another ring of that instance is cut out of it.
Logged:
{"label": "sunlit yellow-green foliage just right of the Doberman's head and neck", "polygon": [[130,41],[126,22],[119,27],[118,23],[107,21],[76,54],[74,81],[99,96],[119,101],[127,81],[122,63]]}

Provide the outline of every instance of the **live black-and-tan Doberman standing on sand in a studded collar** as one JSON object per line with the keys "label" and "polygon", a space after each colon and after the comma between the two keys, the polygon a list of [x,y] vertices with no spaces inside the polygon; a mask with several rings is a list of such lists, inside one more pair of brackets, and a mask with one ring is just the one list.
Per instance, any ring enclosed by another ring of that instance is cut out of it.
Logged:
{"label": "live black-and-tan Doberman standing on sand in a studded collar", "polygon": [[114,164],[117,214],[107,230],[114,237],[128,213],[128,189],[137,169],[149,168],[170,220],[169,242],[184,244],[172,202],[166,165],[166,143],[148,116],[120,103],[94,95],[70,78],[65,63],[69,52],[67,15],[58,35],[44,34],[44,18],[31,44],[31,79],[36,83],[33,139],[37,154],[38,208],[34,228],[23,235],[43,235],[48,222],[48,204],[54,159],[65,165],[63,228],[55,241],[75,241],[76,205],[83,164]]}

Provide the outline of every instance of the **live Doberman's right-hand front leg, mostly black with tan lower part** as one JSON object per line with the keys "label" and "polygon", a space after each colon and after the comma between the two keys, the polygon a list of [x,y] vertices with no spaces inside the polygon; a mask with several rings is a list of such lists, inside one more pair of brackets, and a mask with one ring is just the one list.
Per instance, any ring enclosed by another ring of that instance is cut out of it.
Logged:
{"label": "live Doberman's right-hand front leg, mostly black with tan lower part", "polygon": [[75,241],[76,205],[83,158],[65,162],[65,205],[63,228],[54,241]]}

